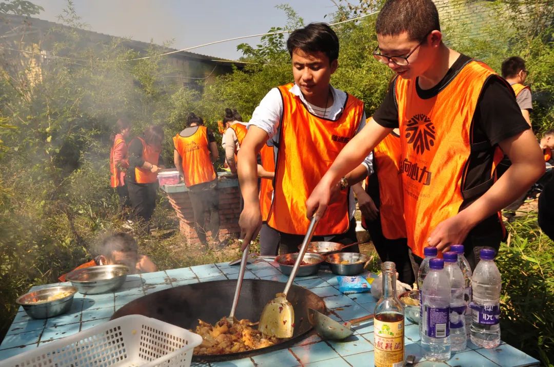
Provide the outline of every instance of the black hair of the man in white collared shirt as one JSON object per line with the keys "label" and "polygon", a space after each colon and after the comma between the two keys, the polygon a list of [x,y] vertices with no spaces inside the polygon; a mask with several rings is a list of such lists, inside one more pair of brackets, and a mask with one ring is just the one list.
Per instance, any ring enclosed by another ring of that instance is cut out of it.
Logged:
{"label": "black hair of the man in white collared shirt", "polygon": [[324,53],[329,63],[338,59],[338,37],[327,23],[310,23],[294,30],[286,40],[286,48],[292,57],[295,49],[305,53]]}

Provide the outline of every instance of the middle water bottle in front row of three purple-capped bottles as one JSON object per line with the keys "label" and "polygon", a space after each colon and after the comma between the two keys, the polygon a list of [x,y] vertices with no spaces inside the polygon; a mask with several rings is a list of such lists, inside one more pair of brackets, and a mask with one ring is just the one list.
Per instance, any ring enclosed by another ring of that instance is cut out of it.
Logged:
{"label": "middle water bottle in front row of three purple-capped bottles", "polygon": [[465,333],[467,303],[464,300],[464,276],[458,266],[458,254],[454,251],[444,254],[444,271],[450,279],[450,345],[452,352],[461,352],[468,344],[468,335]]}

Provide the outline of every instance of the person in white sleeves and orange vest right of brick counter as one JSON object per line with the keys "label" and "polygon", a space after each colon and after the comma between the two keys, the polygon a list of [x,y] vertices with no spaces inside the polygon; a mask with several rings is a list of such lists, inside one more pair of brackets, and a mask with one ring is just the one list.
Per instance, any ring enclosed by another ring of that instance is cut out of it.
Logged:
{"label": "person in white sleeves and orange vest right of brick counter", "polygon": [[233,175],[237,174],[237,153],[240,143],[246,135],[246,123],[242,122],[242,116],[236,109],[225,108],[223,124],[227,127],[221,145],[225,150],[225,163]]}

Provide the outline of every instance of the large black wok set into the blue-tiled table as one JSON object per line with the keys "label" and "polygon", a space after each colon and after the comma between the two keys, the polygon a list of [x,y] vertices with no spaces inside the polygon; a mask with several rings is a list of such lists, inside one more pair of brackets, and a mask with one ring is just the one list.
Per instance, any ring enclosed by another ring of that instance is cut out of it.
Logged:
{"label": "large black wok set into the blue-tiled table", "polygon": [[[111,318],[128,314],[142,314],[173,325],[192,329],[198,326],[198,319],[214,323],[223,316],[228,316],[233,301],[236,280],[220,280],[182,285],[171,289],[151,293],[121,307]],[[257,322],[265,303],[283,292],[284,283],[269,280],[245,279],[240,291],[239,303],[235,316]],[[289,347],[307,336],[311,330],[308,322],[308,307],[325,313],[325,303],[321,297],[299,286],[291,286],[287,295],[294,306],[294,334],[289,340],[271,347],[251,350],[249,352],[194,356],[195,361],[220,361],[245,358],[261,353]]]}

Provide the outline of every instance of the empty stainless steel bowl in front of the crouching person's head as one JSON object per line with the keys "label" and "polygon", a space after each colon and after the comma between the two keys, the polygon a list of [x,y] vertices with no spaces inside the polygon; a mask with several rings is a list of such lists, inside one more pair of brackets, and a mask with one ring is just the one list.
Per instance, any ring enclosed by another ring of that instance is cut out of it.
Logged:
{"label": "empty stainless steel bowl in front of the crouching person's head", "polygon": [[65,279],[84,295],[113,292],[119,289],[129,274],[125,265],[98,265],[71,271]]}

